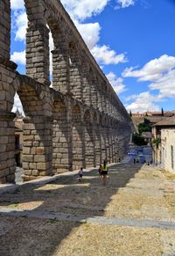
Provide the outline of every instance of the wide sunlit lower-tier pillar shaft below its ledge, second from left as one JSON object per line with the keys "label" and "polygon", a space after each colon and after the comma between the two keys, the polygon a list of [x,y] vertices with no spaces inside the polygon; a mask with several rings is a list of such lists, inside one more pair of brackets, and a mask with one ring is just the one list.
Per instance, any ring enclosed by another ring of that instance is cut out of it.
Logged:
{"label": "wide sunlit lower-tier pillar shaft below its ledge, second from left", "polygon": [[52,119],[25,117],[23,144],[23,179],[37,179],[52,174]]}

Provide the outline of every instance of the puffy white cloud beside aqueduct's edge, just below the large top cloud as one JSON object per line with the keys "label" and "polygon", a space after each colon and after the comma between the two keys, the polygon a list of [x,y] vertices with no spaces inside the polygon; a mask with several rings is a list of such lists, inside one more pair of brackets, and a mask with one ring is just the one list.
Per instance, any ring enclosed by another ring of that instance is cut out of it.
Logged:
{"label": "puffy white cloud beside aqueduct's edge, just below the large top cloud", "polygon": [[109,46],[95,46],[91,50],[92,54],[95,56],[97,62],[105,65],[118,64],[120,62],[127,62],[124,54],[117,55],[114,50],[111,50]]}

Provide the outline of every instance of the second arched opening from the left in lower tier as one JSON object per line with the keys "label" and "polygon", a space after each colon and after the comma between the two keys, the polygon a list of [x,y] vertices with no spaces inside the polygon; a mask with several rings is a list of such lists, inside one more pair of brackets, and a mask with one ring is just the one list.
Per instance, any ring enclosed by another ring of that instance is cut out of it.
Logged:
{"label": "second arched opening from the left in lower tier", "polygon": [[66,105],[62,99],[55,99],[52,108],[52,166],[54,173],[70,171],[70,143]]}

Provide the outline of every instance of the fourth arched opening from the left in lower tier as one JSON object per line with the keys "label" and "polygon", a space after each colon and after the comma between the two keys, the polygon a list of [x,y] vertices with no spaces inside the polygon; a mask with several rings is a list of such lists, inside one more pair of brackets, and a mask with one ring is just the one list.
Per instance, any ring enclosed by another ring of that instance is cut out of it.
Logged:
{"label": "fourth arched opening from the left in lower tier", "polygon": [[87,110],[84,113],[85,125],[85,156],[87,167],[95,166],[95,138],[93,133],[93,125],[91,114]]}

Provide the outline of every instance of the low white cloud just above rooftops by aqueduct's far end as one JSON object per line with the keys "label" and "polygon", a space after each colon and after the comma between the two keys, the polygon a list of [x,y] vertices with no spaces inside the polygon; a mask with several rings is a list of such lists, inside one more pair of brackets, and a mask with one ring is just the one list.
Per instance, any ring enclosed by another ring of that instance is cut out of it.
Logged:
{"label": "low white cloud just above rooftops by aqueduct's far end", "polygon": [[151,95],[149,91],[144,91],[137,95],[131,95],[128,97],[128,101],[134,99],[134,102],[126,105],[126,109],[131,111],[132,113],[142,113],[147,111],[158,111],[160,107],[155,104],[155,102],[162,101],[162,97],[160,95],[154,96]]}

